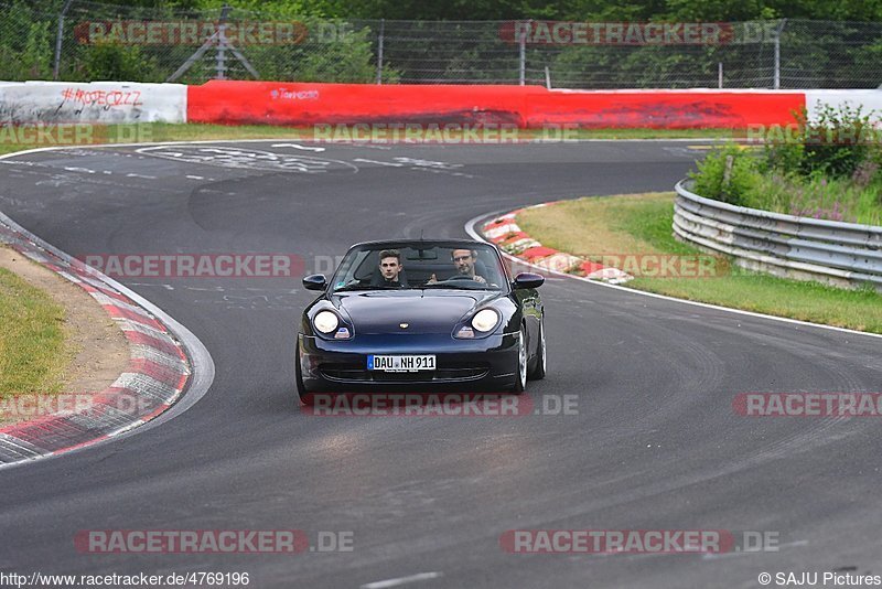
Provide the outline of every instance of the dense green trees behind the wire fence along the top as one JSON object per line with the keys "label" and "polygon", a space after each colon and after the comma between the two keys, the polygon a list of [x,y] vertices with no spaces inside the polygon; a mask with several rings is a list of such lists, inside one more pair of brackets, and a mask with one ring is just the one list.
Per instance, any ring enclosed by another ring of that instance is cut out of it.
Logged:
{"label": "dense green trees behind the wire fence along the top", "polygon": [[[63,4],[64,0],[0,0],[0,79],[51,76]],[[234,21],[342,20],[363,31],[348,45],[309,40],[301,46],[240,47],[266,79],[374,81],[376,71],[368,71],[376,69],[379,19],[385,19],[387,30],[384,67],[389,68],[384,77],[390,83],[516,83],[517,47],[501,43],[495,23],[478,21],[525,19],[740,23],[786,18],[790,21],[782,40],[784,87],[868,87],[875,85],[873,79],[882,72],[879,28],[872,24],[882,21],[882,3],[860,0],[74,0],[66,18],[61,76],[88,79],[93,72],[104,77],[108,72],[122,71],[132,81],[164,79],[193,54],[195,46],[142,46],[138,55],[120,47],[83,46],[71,30],[77,23],[92,21],[216,20],[226,4],[232,7]],[[401,19],[410,22],[399,21],[396,25],[395,21]],[[793,19],[837,22],[800,28]],[[432,32],[434,21],[448,29],[437,28],[435,36],[424,36]],[[461,21],[472,21],[472,36],[460,35],[456,28],[464,24]],[[481,26],[475,23],[485,24],[486,31],[480,32]],[[397,33],[389,32],[396,28]],[[714,85],[717,64],[722,63],[727,85],[731,79],[734,85],[757,87],[772,83],[771,51],[772,44],[765,41],[667,47],[540,45],[527,49],[526,74],[529,83],[541,84],[548,66],[552,84],[563,87],[658,87],[660,79],[666,87],[695,87]],[[213,55],[211,52],[204,56],[181,82],[200,83],[214,77]],[[143,60],[142,75],[131,77],[129,65],[138,56]],[[352,64],[338,63],[349,57]],[[235,60],[228,63],[234,68],[229,77],[249,77]],[[154,65],[161,66],[160,72]]]}

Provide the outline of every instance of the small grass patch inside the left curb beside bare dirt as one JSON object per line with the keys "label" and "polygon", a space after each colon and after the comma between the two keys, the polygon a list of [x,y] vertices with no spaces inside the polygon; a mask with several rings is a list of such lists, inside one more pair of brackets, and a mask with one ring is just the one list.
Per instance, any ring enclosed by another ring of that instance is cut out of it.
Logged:
{"label": "small grass patch inside the left curb beside bare dirt", "polygon": [[0,398],[58,392],[69,361],[64,320],[46,292],[0,268]]}

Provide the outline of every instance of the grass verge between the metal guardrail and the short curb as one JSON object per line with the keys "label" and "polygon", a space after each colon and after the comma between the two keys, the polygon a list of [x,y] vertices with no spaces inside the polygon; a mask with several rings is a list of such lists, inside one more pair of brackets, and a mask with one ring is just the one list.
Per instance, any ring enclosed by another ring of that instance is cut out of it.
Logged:
{"label": "grass verge between the metal guardrail and the short curb", "polygon": [[711,275],[643,276],[627,282],[628,288],[882,333],[882,294],[750,272],[727,257],[709,257],[674,239],[673,203],[674,193],[588,197],[527,210],[517,222],[544,245],[582,257],[671,254],[698,256],[713,264]]}

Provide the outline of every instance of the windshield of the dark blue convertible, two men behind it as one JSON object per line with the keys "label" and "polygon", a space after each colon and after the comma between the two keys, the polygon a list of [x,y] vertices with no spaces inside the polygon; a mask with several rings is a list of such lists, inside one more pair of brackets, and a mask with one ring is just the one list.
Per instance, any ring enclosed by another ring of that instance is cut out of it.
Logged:
{"label": "windshield of the dark blue convertible, two men behind it", "polygon": [[376,289],[501,290],[506,283],[496,249],[485,244],[432,242],[353,248],[337,268],[334,291]]}

